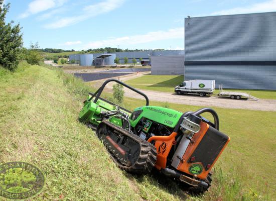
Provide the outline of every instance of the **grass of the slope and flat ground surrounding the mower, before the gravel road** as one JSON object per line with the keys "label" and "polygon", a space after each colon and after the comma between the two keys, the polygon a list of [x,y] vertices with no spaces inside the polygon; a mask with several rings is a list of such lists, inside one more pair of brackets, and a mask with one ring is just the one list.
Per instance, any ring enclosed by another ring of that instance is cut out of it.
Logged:
{"label": "grass of the slope and flat ground surrounding the mower, before the gravel road", "polygon": [[[161,178],[167,184],[162,185],[156,176],[133,176],[114,166],[91,130],[76,119],[89,90],[70,75],[38,66],[0,77],[0,160],[28,161],[45,172],[46,187],[36,200],[58,200],[61,193],[67,200],[185,199],[187,195],[174,183]],[[125,98],[127,108],[143,104]],[[180,111],[198,109],[169,106]],[[271,126],[276,113],[216,110],[221,130],[232,141],[217,163],[209,192],[187,199],[237,200],[243,196],[244,200],[258,200],[256,189],[275,197],[273,177],[267,175],[273,175],[276,165]]]}

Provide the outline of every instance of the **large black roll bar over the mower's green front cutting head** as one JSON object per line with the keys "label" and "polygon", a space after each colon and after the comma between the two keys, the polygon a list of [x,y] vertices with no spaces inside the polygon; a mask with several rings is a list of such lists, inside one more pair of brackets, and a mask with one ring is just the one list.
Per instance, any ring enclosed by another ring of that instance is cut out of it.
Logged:
{"label": "large black roll bar over the mower's green front cutting head", "polygon": [[133,88],[133,87],[131,87],[131,86],[129,86],[129,85],[127,85],[127,84],[119,81],[119,80],[117,80],[117,79],[108,79],[105,82],[103,82],[103,84],[101,85],[101,87],[88,99],[88,101],[92,100],[95,97],[94,103],[97,103],[97,101],[98,101],[98,99],[99,99],[99,97],[100,97],[100,95],[101,95],[101,93],[102,93],[105,85],[107,83],[111,82],[111,81],[117,82],[117,83],[125,86],[126,88],[129,88],[130,90],[132,90],[132,91],[134,91],[136,93],[139,93],[140,95],[144,96],[145,99],[146,99],[146,106],[149,106],[149,98],[148,98],[148,96],[145,93],[143,93],[143,92],[141,92],[141,91],[139,91],[139,90],[137,90],[137,89],[135,89],[135,88]]}

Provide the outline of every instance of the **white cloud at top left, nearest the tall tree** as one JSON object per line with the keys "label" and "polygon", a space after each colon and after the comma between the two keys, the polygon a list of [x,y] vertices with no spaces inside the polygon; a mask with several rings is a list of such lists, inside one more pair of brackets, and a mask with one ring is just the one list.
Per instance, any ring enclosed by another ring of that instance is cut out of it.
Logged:
{"label": "white cloud at top left, nearest the tall tree", "polygon": [[47,11],[52,8],[63,6],[68,0],[35,0],[28,5],[27,11],[21,14],[20,18],[27,18],[30,15]]}

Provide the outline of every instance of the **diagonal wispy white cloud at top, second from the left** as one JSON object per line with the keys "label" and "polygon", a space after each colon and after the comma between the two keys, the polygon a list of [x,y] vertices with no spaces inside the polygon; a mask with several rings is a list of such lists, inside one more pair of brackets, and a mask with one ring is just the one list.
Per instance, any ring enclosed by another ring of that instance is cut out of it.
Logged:
{"label": "diagonal wispy white cloud at top, second from the left", "polygon": [[114,9],[117,9],[121,7],[124,1],[125,0],[106,0],[104,2],[86,6],[83,9],[83,13],[84,13],[83,15],[61,18],[54,23],[45,25],[44,27],[47,29],[58,29],[58,28],[74,25],[84,20],[87,20],[89,18],[96,17],[98,15],[108,13]]}

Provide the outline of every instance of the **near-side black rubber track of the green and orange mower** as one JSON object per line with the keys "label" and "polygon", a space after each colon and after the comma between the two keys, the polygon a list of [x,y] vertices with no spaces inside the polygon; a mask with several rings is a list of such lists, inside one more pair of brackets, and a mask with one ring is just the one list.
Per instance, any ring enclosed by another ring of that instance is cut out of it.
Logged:
{"label": "near-side black rubber track of the green and orange mower", "polygon": [[152,171],[157,158],[157,151],[154,145],[152,145],[148,141],[141,139],[139,136],[136,136],[135,134],[129,133],[123,128],[113,125],[112,123],[106,120],[103,120],[101,123],[105,124],[108,127],[111,127],[112,129],[120,132],[128,138],[131,138],[133,141],[140,145],[140,155],[137,158],[136,162],[131,166],[124,166],[120,164],[120,162],[108,150],[110,157],[120,169],[136,174],[145,174],[150,173]]}

